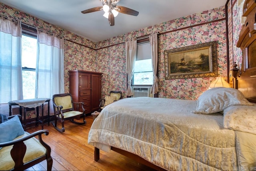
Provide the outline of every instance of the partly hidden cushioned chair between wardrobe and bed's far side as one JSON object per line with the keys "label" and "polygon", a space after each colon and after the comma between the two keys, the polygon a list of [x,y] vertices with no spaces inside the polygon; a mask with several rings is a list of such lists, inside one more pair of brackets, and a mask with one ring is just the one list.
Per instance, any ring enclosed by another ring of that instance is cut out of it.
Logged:
{"label": "partly hidden cushioned chair between wardrobe and bed's far side", "polygon": [[122,98],[122,91],[112,90],[109,92],[109,96],[104,99],[100,99],[99,111],[101,111],[106,105],[113,103]]}

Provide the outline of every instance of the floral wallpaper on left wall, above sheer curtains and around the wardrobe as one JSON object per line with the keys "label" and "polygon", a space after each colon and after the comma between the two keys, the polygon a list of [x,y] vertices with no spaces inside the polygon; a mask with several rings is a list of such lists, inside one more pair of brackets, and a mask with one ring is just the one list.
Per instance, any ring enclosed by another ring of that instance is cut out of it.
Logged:
{"label": "floral wallpaper on left wall, above sheer curtains and around the wardrobe", "polygon": [[[44,22],[38,18],[20,12],[14,8],[0,3],[0,15],[20,19],[23,23],[30,26],[44,29],[48,32],[55,33],[65,39],[64,46],[64,91],[69,92],[69,70],[87,70],[97,72],[96,67],[96,43],[82,38],[62,28],[58,28],[50,23]],[[79,44],[72,43],[77,42]],[[80,45],[81,44],[81,45]],[[84,45],[84,46],[82,46]],[[87,47],[89,48],[87,48]]]}

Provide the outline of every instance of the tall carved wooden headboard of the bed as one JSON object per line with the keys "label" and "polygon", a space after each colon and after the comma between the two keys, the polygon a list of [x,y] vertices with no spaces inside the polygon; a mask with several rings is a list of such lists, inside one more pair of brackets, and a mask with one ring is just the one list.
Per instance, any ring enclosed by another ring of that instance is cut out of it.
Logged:
{"label": "tall carved wooden headboard of the bed", "polygon": [[243,53],[242,67],[240,70],[233,68],[235,78],[234,88],[239,89],[245,97],[256,103],[256,2],[246,0],[243,6],[245,24],[239,34],[237,47]]}

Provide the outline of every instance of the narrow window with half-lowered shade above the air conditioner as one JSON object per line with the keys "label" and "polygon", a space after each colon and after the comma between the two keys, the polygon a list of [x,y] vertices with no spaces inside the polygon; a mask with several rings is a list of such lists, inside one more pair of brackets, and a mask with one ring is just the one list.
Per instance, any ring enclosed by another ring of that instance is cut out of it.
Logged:
{"label": "narrow window with half-lowered shade above the air conditioner", "polygon": [[137,44],[137,57],[134,65],[132,86],[151,86],[153,84],[150,43]]}

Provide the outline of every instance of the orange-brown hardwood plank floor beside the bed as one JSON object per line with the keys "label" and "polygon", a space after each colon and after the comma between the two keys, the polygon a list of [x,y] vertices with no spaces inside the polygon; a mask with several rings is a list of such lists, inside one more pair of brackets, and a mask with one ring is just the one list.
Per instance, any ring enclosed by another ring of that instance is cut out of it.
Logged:
{"label": "orange-brown hardwood plank floor beside the bed", "polygon": [[[92,125],[92,116],[86,116],[86,125],[77,125],[65,121],[65,132],[60,133],[52,124],[44,124],[44,129],[49,130],[49,135],[42,139],[50,145],[53,159],[52,170],[56,171],[154,171],[150,167],[120,155],[114,151],[106,153],[100,151],[100,160],[94,161],[94,147],[88,145],[88,132]],[[40,130],[41,126],[29,128],[26,131],[32,133]],[[46,161],[30,167],[28,171],[45,171]]]}

